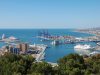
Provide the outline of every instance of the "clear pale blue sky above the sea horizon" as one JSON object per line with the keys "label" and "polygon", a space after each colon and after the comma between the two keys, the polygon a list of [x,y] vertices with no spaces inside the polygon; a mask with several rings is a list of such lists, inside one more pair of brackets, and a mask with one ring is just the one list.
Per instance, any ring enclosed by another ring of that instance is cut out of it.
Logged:
{"label": "clear pale blue sky above the sea horizon", "polygon": [[0,29],[100,27],[100,0],[0,0]]}

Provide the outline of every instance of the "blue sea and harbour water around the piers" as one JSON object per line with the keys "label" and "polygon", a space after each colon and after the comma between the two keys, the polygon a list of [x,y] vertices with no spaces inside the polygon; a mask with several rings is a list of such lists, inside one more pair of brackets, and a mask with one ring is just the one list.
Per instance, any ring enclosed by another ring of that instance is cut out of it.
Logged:
{"label": "blue sea and harbour water around the piers", "polygon": [[[50,41],[40,42],[40,39],[35,38],[38,35],[38,31],[42,29],[0,29],[0,36],[5,34],[6,37],[15,36],[23,42],[29,42],[31,44],[47,44],[50,48],[48,48],[45,53],[45,61],[48,62],[56,62],[59,58],[70,54],[75,53],[74,45],[75,44],[66,44],[59,46],[51,46]],[[71,35],[76,37],[88,37],[93,36],[91,34],[74,32],[72,29],[48,29],[48,32],[52,35]],[[94,43],[88,43],[94,45]],[[0,47],[2,47],[4,43],[0,43]]]}

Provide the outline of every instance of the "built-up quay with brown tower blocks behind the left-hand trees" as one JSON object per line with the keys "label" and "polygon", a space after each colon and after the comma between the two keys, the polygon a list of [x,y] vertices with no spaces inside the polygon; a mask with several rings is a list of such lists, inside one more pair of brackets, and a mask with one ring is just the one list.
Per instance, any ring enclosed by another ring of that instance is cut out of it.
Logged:
{"label": "built-up quay with brown tower blocks behind the left-hand trees", "polygon": [[47,45],[44,44],[28,44],[28,43],[17,43],[17,44],[8,44],[0,48],[0,56],[5,53],[13,53],[13,54],[25,54],[31,55],[35,58],[36,62],[42,61],[45,59],[45,50]]}

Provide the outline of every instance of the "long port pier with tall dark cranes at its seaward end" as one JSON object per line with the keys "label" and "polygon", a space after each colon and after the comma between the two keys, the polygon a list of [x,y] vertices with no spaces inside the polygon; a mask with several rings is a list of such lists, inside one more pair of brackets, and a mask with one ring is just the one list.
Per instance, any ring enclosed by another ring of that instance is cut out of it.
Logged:
{"label": "long port pier with tall dark cranes at its seaward end", "polygon": [[48,41],[59,41],[59,44],[73,44],[73,43],[81,43],[81,42],[100,42],[100,37],[92,36],[92,37],[74,37],[74,36],[55,36],[51,35],[48,32],[39,33],[37,38]]}

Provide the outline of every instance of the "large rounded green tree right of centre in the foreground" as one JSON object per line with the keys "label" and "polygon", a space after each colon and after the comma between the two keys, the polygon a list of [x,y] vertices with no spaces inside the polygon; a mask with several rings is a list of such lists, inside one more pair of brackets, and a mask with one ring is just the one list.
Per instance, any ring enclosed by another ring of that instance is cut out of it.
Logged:
{"label": "large rounded green tree right of centre in the foreground", "polygon": [[62,75],[82,75],[85,69],[84,59],[78,54],[69,54],[58,61],[59,71]]}

